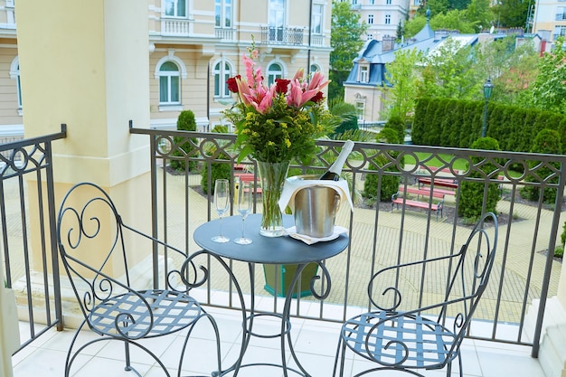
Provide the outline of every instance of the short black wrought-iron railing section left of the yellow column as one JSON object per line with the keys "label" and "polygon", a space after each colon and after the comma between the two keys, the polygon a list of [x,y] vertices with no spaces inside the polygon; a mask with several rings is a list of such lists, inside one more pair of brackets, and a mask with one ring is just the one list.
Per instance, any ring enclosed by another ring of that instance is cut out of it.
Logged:
{"label": "short black wrought-iron railing section left of the yellow column", "polygon": [[20,350],[53,326],[62,330],[52,142],[63,137],[65,125],[56,134],[0,145],[5,287],[16,291],[18,306],[27,308],[20,314],[28,320],[28,335],[22,336]]}

